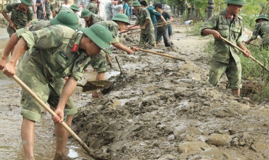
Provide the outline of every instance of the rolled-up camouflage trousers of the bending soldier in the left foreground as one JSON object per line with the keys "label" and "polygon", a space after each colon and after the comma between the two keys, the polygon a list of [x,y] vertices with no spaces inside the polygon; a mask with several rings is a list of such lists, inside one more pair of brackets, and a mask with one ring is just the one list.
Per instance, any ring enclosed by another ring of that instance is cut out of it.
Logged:
{"label": "rolled-up camouflage trousers of the bending soldier in the left foreground", "polygon": [[[28,52],[29,53],[29,52]],[[43,74],[43,68],[37,65],[27,52],[23,56],[18,66],[17,76],[33,91],[43,102],[48,102],[54,108],[57,107],[64,80],[49,81]],[[32,98],[32,96],[22,89],[21,92],[21,115],[31,121],[39,121],[43,107]],[[72,97],[69,98],[64,108],[64,120],[66,116],[74,115],[78,112]]]}

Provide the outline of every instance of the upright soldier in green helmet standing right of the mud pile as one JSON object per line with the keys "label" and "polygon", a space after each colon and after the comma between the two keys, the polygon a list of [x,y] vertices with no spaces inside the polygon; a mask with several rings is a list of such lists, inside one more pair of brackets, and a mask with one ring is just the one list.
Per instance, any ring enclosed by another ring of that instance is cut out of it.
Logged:
{"label": "upright soldier in green helmet standing right of the mud pile", "polygon": [[239,96],[240,88],[242,87],[240,51],[223,41],[221,37],[246,51],[246,57],[250,56],[250,51],[242,43],[243,24],[242,18],[238,15],[246,3],[244,0],[226,0],[224,3],[227,4],[226,10],[210,17],[201,26],[200,33],[202,36],[212,34],[215,38],[208,82],[216,86],[219,79],[226,73],[231,91]]}

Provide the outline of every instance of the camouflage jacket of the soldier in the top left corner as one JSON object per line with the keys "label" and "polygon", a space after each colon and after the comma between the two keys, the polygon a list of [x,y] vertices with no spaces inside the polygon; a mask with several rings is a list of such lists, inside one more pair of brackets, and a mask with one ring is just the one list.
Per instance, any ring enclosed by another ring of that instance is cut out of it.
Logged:
{"label": "camouflage jacket of the soldier in the top left corner", "polygon": [[8,4],[4,7],[6,13],[11,13],[11,21],[14,23],[16,29],[23,28],[33,19],[32,10],[22,12],[20,9],[20,3]]}

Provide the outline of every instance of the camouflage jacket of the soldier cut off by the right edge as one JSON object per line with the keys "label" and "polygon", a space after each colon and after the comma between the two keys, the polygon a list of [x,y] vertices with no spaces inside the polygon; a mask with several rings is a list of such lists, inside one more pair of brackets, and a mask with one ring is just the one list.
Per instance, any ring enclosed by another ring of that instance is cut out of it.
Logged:
{"label": "camouflage jacket of the soldier cut off by the right edge", "polygon": [[255,25],[251,38],[257,39],[258,35],[262,38],[262,44],[269,42],[269,22],[262,21]]}

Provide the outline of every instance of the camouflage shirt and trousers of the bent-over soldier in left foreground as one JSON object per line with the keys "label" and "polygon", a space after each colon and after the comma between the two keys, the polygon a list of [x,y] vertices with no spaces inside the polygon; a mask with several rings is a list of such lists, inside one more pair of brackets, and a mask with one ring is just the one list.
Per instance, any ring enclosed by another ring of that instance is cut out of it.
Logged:
{"label": "camouflage shirt and trousers of the bent-over soldier in left foreground", "polygon": [[[57,106],[63,87],[62,77],[81,80],[84,67],[91,57],[79,51],[83,34],[69,27],[53,25],[38,31],[27,31],[21,37],[29,48],[19,64],[17,75],[44,101]],[[22,90],[21,115],[32,121],[41,118],[42,106]],[[77,109],[73,100],[65,105],[64,115],[74,115]]]}

